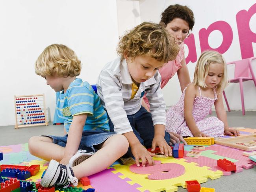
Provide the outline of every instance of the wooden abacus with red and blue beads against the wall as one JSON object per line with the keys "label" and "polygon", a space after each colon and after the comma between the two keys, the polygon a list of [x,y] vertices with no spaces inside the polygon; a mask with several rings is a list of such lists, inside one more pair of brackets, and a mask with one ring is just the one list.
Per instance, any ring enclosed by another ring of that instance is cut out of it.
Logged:
{"label": "wooden abacus with red and blue beads against the wall", "polygon": [[45,95],[14,96],[15,129],[29,126],[47,126]]}

